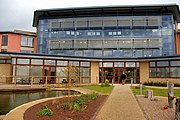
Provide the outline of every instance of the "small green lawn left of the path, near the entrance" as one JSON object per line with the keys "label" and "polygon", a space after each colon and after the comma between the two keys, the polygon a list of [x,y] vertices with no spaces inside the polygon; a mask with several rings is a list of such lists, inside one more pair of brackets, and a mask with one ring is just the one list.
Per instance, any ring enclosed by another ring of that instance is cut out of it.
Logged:
{"label": "small green lawn left of the path, near the entrance", "polygon": [[90,85],[90,86],[79,86],[81,88],[86,88],[86,89],[90,89],[90,90],[96,90],[98,92],[102,92],[102,93],[106,93],[106,94],[110,94],[111,91],[113,90],[113,86],[110,87],[101,87],[100,85]]}

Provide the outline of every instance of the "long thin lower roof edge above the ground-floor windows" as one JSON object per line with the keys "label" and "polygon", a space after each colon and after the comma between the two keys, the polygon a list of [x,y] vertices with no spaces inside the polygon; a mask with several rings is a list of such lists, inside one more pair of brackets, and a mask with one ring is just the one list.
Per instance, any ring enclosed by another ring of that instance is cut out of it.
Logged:
{"label": "long thin lower roof edge above the ground-floor windows", "polygon": [[139,58],[96,58],[96,57],[78,57],[78,56],[63,56],[49,54],[34,54],[34,53],[17,53],[17,52],[0,52],[0,59],[11,58],[31,58],[31,59],[49,59],[49,60],[72,60],[72,61],[89,61],[89,62],[117,62],[117,61],[163,61],[163,60],[180,60],[180,55],[175,56],[160,56],[160,57],[139,57]]}

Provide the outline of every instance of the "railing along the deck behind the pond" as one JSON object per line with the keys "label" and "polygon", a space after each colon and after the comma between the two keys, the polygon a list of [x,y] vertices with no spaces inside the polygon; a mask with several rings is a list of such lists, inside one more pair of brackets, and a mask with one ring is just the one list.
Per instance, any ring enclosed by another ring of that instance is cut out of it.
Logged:
{"label": "railing along the deck behind the pond", "polygon": [[[20,85],[43,85],[49,87],[53,84],[56,87],[70,87],[75,84],[81,84],[82,76],[78,77],[62,77],[62,76],[0,76],[0,83],[11,84],[13,88],[17,88],[17,84]],[[90,77],[89,77],[90,78]],[[96,78],[97,81],[97,78]],[[89,83],[88,83],[89,84]]]}

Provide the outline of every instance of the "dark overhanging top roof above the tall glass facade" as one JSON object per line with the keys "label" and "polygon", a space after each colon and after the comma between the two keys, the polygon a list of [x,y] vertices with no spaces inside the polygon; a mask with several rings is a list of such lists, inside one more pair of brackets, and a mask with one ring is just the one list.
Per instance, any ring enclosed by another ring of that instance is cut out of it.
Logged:
{"label": "dark overhanging top roof above the tall glass facade", "polygon": [[172,13],[175,20],[180,22],[179,6],[176,4],[138,5],[138,6],[98,6],[43,9],[34,12],[33,27],[38,25],[40,18],[71,18],[84,16],[110,15],[144,15],[147,13]]}

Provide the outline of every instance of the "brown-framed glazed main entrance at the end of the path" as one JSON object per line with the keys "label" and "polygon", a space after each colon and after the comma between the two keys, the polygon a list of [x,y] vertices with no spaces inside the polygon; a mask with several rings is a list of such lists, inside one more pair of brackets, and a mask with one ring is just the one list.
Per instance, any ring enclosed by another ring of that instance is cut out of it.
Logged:
{"label": "brown-framed glazed main entrance at the end of the path", "polygon": [[100,62],[99,82],[112,80],[115,83],[122,82],[122,75],[126,76],[126,81],[139,83],[140,72],[139,62]]}

